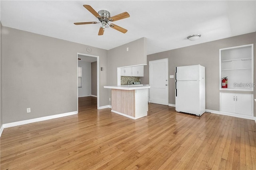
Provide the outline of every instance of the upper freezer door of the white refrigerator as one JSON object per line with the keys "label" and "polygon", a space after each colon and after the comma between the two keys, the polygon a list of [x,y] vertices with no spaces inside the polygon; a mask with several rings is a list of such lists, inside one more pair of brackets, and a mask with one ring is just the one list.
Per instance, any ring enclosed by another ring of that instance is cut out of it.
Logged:
{"label": "upper freezer door of the white refrigerator", "polygon": [[176,67],[176,80],[199,80],[200,65]]}

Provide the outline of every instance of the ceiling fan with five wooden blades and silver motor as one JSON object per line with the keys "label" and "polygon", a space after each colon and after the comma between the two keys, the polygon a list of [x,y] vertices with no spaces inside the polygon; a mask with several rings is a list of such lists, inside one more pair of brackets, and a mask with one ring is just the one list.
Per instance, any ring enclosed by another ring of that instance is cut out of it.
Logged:
{"label": "ceiling fan with five wooden blades and silver motor", "polygon": [[126,33],[127,29],[124,29],[122,27],[119,27],[118,25],[115,25],[113,23],[108,23],[109,21],[117,21],[117,20],[122,20],[124,18],[130,17],[128,12],[123,12],[121,14],[118,14],[116,16],[110,17],[110,13],[107,10],[100,10],[99,12],[96,12],[90,5],[83,5],[84,8],[86,8],[90,13],[92,13],[96,18],[98,18],[99,22],[75,22],[75,25],[83,25],[83,24],[92,24],[92,23],[101,23],[100,30],[98,35],[103,35],[104,29],[108,28],[108,25],[117,31],[120,31],[122,33]]}

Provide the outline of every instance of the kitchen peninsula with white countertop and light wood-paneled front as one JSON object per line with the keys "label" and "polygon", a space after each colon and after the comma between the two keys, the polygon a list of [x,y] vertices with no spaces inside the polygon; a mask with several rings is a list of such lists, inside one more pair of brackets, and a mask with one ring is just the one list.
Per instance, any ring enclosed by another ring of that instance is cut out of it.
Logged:
{"label": "kitchen peninsula with white countertop and light wood-paneled front", "polygon": [[148,115],[148,85],[104,86],[112,94],[112,112],[138,119]]}

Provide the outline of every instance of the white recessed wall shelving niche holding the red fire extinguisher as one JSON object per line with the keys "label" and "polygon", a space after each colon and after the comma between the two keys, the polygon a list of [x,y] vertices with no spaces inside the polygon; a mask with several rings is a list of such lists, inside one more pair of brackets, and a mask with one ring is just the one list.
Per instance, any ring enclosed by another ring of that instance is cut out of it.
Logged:
{"label": "white recessed wall shelving niche holding the red fire extinguisher", "polygon": [[[222,78],[228,77],[228,88]],[[220,90],[253,91],[253,44],[220,49]]]}

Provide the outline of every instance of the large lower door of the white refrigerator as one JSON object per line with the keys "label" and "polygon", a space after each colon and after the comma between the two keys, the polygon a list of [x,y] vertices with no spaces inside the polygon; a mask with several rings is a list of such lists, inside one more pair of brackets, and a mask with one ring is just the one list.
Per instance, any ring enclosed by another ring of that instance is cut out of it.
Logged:
{"label": "large lower door of the white refrigerator", "polygon": [[199,81],[177,81],[176,89],[176,111],[201,114]]}

